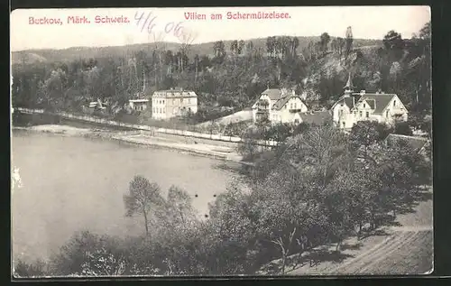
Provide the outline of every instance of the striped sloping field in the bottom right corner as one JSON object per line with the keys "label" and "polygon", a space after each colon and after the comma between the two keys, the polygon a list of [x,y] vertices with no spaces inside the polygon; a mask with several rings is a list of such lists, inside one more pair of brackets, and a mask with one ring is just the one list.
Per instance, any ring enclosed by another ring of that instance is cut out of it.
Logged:
{"label": "striped sloping field in the bottom right corner", "polygon": [[[425,192],[431,194],[431,192]],[[371,274],[423,274],[433,265],[432,199],[419,202],[415,212],[401,214],[396,222],[400,226],[382,226],[385,235],[373,235],[357,241],[342,250],[347,256],[342,262],[321,262],[317,266],[304,265],[290,275],[371,275]],[[333,249],[333,247],[329,247]]]}

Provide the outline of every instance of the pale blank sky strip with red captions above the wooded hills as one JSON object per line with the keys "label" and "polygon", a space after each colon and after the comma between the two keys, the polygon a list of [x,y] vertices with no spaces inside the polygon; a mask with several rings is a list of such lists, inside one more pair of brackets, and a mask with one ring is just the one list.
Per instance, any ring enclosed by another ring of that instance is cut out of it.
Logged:
{"label": "pale blank sky strip with red captions above the wooded hills", "polygon": [[[227,19],[227,13],[259,12],[268,17]],[[272,13],[283,18],[270,19]],[[205,19],[187,20],[188,14],[205,14]],[[213,20],[211,14],[221,14],[222,19]],[[85,17],[89,23],[77,23],[77,17]],[[96,19],[104,23],[96,23]],[[110,19],[122,23],[106,23]],[[345,37],[348,26],[359,39],[382,39],[390,30],[410,38],[428,21],[428,6],[20,9],[10,17],[10,42],[11,51],[23,51],[161,41],[195,44],[274,35],[319,36],[323,32]]]}

